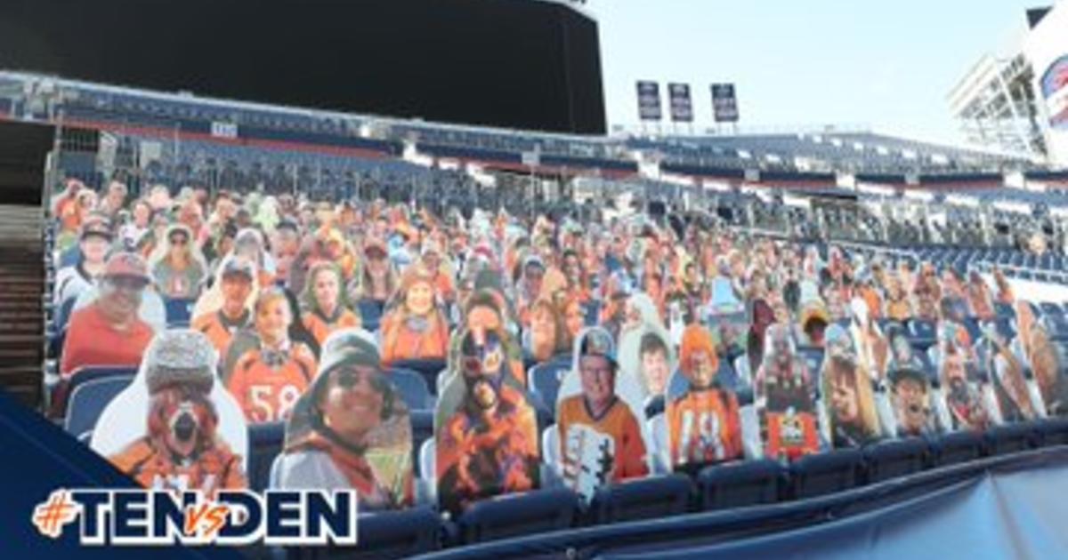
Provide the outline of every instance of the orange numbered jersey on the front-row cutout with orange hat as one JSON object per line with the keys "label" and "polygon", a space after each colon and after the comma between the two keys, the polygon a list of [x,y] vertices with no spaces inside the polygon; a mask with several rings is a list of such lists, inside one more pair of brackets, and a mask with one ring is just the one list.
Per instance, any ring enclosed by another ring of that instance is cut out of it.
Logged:
{"label": "orange numbered jersey on the front-row cutout with orange hat", "polygon": [[708,464],[741,458],[738,399],[721,389],[690,390],[668,404],[674,465]]}

